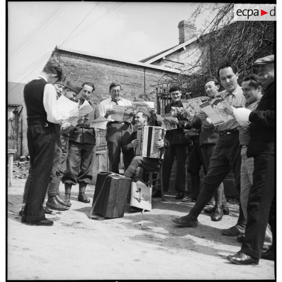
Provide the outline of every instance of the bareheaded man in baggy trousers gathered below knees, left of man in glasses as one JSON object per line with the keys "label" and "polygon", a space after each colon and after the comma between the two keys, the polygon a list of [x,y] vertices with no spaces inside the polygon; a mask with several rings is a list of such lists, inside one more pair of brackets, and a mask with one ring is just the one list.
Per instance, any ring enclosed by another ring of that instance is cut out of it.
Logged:
{"label": "bareheaded man in baggy trousers gathered below knees, left of man in glasses", "polygon": [[[91,82],[84,82],[79,95],[79,106],[86,100],[93,108],[94,118],[99,115],[98,105],[89,101],[90,95],[95,90]],[[89,128],[87,123],[88,114],[82,117],[69,134],[69,152],[66,160],[66,170],[62,177],[65,183],[65,201],[70,202],[72,185],[79,184],[77,200],[82,203],[89,203],[90,199],[85,196],[87,184],[92,180],[92,167],[96,154],[96,134],[94,128]]]}

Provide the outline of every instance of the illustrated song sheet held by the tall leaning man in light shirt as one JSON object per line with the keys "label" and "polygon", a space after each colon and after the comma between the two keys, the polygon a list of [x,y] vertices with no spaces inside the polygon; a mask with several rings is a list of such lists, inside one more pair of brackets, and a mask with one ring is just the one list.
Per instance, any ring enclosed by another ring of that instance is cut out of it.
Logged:
{"label": "illustrated song sheet held by the tall leaning man in light shirt", "polygon": [[209,99],[209,101],[201,104],[200,108],[207,114],[214,125],[224,123],[234,118],[232,115],[225,112],[226,101],[220,96]]}

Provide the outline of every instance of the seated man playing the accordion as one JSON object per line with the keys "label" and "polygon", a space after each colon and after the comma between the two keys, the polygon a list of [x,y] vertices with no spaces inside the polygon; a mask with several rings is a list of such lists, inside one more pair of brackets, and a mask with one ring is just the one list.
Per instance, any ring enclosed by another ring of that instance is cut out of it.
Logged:
{"label": "seated man playing the accordion", "polygon": [[[135,125],[137,127],[147,126],[149,124],[149,120],[151,119],[151,113],[147,108],[139,110],[135,116]],[[123,146],[123,150],[136,150],[136,147],[139,145],[139,140],[137,137],[137,131],[132,132],[129,143]],[[156,171],[160,168],[160,159],[163,155],[164,149],[169,146],[168,140],[159,138],[156,141],[155,146],[160,150],[159,158],[150,158],[150,157],[142,157],[135,156],[126,171],[124,172],[124,176],[132,178],[134,182],[143,181],[144,171]]]}

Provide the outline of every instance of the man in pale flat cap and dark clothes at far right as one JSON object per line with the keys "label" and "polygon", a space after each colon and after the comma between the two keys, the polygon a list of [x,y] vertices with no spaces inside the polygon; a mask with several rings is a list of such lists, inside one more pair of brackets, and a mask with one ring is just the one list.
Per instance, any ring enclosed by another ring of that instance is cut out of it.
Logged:
{"label": "man in pale flat cap and dark clothes at far right", "polygon": [[255,61],[259,82],[264,87],[256,110],[234,109],[233,114],[239,122],[250,121],[250,142],[247,156],[254,158],[253,185],[249,192],[247,225],[241,251],[227,259],[236,264],[258,264],[259,259],[274,259],[274,242],[270,250],[262,253],[265,230],[269,222],[273,235],[274,223],[274,137],[275,137],[275,74],[274,55]]}

